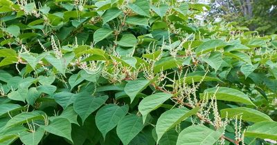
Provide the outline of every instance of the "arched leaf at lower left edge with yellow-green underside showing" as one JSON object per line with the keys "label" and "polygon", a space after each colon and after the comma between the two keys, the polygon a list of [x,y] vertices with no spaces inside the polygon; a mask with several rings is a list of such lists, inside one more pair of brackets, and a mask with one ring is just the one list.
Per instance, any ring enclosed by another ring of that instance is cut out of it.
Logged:
{"label": "arched leaf at lower left edge with yellow-green underside showing", "polygon": [[6,128],[10,126],[16,126],[19,124],[24,124],[26,122],[32,122],[35,120],[44,120],[44,112],[40,110],[34,110],[33,112],[25,112],[15,115],[6,124]]}

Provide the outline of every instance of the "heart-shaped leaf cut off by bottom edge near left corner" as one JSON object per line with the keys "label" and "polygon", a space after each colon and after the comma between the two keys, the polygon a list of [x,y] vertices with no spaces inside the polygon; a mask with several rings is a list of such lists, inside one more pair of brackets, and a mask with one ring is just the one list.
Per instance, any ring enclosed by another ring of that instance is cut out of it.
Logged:
{"label": "heart-shaped leaf cut off by bottom edge near left corner", "polygon": [[21,142],[26,145],[37,145],[44,135],[44,128],[37,128],[35,132],[25,131],[19,135]]}

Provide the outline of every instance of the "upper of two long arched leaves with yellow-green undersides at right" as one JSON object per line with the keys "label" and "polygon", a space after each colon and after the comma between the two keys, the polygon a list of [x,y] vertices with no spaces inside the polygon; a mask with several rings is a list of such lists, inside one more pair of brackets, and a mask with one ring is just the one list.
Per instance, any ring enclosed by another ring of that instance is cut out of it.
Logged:
{"label": "upper of two long arched leaves with yellow-green undersides at right", "polygon": [[201,99],[205,99],[206,96],[204,94],[208,95],[208,99],[215,95],[217,100],[234,101],[255,106],[247,95],[233,88],[218,87],[218,90],[217,87],[208,88],[200,95]]}

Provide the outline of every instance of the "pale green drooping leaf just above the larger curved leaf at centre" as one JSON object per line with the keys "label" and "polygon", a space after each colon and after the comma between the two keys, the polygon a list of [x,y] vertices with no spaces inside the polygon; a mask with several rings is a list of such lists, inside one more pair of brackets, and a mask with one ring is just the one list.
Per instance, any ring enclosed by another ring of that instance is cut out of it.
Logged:
{"label": "pale green drooping leaf just above the larger curved leaf at centre", "polygon": [[150,81],[148,79],[136,79],[133,81],[128,81],[124,88],[124,91],[130,97],[130,102],[132,103],[136,95],[144,90],[149,84]]}

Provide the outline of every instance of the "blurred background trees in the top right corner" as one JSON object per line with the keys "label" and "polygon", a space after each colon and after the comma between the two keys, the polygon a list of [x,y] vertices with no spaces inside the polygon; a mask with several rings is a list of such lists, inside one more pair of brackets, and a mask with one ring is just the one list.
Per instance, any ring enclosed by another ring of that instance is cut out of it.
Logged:
{"label": "blurred background trees in the top right corner", "polygon": [[211,19],[220,17],[238,26],[246,26],[260,34],[277,32],[277,1],[272,0],[211,0]]}

